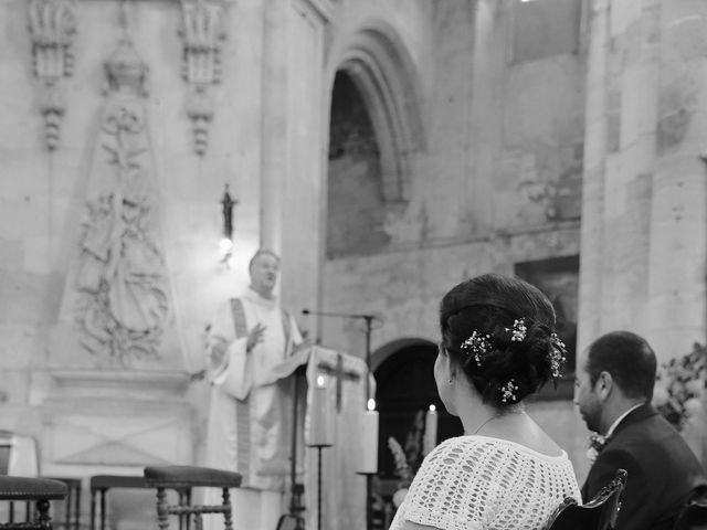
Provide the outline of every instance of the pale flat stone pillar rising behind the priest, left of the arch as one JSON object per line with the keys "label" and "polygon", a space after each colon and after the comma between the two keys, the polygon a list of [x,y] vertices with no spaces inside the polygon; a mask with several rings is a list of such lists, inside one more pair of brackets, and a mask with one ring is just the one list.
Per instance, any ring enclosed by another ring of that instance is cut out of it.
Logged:
{"label": "pale flat stone pillar rising behind the priest, left of the arch", "polygon": [[327,14],[310,0],[275,0],[265,11],[261,244],[282,257],[282,300],[295,315],[316,305],[319,289]]}

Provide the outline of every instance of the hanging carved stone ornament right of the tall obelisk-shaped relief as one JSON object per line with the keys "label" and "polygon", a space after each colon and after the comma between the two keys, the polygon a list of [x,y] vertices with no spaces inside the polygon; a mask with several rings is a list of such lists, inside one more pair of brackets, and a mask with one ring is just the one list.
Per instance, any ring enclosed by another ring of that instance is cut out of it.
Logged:
{"label": "hanging carved stone ornament right of the tall obelisk-shaped relief", "polygon": [[221,82],[221,46],[226,36],[222,0],[182,0],[182,77],[189,84],[187,116],[192,123],[194,151],[207,152],[213,119],[210,88]]}

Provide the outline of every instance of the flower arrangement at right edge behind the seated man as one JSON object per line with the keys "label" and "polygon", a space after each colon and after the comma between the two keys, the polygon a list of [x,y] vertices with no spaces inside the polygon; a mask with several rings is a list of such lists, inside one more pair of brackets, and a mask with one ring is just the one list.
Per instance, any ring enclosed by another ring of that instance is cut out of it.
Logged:
{"label": "flower arrangement at right edge behind the seated man", "polygon": [[707,346],[695,342],[693,351],[671,359],[658,371],[653,405],[678,431],[701,412],[707,388]]}

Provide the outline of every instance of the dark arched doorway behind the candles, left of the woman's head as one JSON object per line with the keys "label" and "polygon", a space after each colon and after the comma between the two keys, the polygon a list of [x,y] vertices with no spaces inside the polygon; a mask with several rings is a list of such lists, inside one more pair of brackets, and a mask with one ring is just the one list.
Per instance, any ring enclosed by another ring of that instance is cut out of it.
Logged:
{"label": "dark arched doorway behind the candles, left of the woman's head", "polygon": [[[382,480],[395,481],[395,464],[388,438],[392,436],[398,441],[416,470],[423,456],[424,416],[431,404],[437,410],[437,443],[463,433],[461,422],[446,412],[437,394],[433,374],[436,344],[421,339],[403,339],[397,343],[400,348],[391,349],[393,343],[376,352],[372,363],[380,413],[379,476]],[[389,351],[383,359],[380,359],[381,350]]]}

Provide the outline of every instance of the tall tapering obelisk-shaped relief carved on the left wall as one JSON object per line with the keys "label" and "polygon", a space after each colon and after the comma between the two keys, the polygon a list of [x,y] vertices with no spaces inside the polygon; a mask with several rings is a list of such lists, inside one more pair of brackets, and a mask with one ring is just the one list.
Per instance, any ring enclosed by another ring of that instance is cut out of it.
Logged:
{"label": "tall tapering obelisk-shaped relief carved on the left wall", "polygon": [[105,73],[107,100],[82,223],[75,321],[87,351],[128,364],[159,357],[169,286],[144,102],[148,68],[127,32]]}

